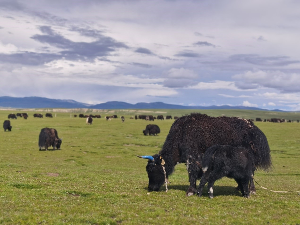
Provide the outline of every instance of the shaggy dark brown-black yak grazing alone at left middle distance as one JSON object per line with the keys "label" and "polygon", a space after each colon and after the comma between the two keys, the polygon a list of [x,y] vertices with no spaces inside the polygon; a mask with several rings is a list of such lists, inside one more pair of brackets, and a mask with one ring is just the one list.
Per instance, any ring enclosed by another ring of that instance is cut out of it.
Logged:
{"label": "shaggy dark brown-black yak grazing alone at left middle distance", "polygon": [[53,150],[55,147],[60,149],[61,146],[61,138],[58,138],[57,131],[53,128],[43,128],[41,129],[41,133],[38,138],[38,146],[40,147],[40,151],[42,147],[45,147],[45,150],[48,150],[48,147],[52,146]]}

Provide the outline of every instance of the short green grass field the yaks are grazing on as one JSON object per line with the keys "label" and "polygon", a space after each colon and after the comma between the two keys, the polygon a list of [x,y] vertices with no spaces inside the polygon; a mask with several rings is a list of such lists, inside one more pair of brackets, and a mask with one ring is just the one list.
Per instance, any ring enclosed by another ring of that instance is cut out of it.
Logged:
{"label": "short green grass field the yaks are grazing on", "polygon": [[[1,110],[3,123],[9,113]],[[43,110],[42,110],[43,111]],[[104,110],[101,119],[86,125],[70,117],[72,111],[48,110],[53,118],[10,119],[11,132],[0,132],[0,224],[299,224],[300,193],[274,193],[256,184],[256,194],[245,199],[233,179],[215,182],[214,199],[185,196],[189,186],[184,164],[169,177],[168,192],[148,192],[147,160],[136,155],[158,153],[174,120],[149,122],[130,119],[148,114],[181,116],[187,110]],[[74,110],[78,115],[80,110]],[[39,112],[45,115],[45,112]],[[72,113],[72,115],[73,115]],[[244,118],[285,117],[299,113],[268,114],[244,110],[201,110],[209,116]],[[103,117],[117,114],[118,119]],[[125,116],[122,123],[120,117]],[[265,117],[263,117],[265,116]],[[158,136],[144,136],[157,124]],[[257,171],[255,179],[271,190],[300,191],[300,123],[255,122],[265,133],[274,168]],[[2,126],[2,125],[1,125]],[[61,150],[39,151],[42,128],[55,128]]]}

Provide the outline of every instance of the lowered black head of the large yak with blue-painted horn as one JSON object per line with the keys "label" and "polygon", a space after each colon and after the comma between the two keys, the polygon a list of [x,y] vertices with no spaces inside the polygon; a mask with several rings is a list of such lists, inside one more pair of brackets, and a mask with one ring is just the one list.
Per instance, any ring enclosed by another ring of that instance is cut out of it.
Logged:
{"label": "lowered black head of the large yak with blue-painted horn", "polygon": [[149,191],[159,191],[162,184],[164,184],[165,176],[164,170],[161,165],[161,159],[158,154],[156,155],[147,155],[147,156],[138,156],[140,158],[149,159],[148,164],[146,166],[146,171],[148,173]]}

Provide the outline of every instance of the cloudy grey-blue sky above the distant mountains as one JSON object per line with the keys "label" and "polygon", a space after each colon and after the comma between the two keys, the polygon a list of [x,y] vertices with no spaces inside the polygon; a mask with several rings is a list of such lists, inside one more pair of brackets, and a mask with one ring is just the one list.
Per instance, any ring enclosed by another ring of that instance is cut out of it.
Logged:
{"label": "cloudy grey-blue sky above the distant mountains", "polygon": [[0,0],[0,96],[300,110],[300,1]]}

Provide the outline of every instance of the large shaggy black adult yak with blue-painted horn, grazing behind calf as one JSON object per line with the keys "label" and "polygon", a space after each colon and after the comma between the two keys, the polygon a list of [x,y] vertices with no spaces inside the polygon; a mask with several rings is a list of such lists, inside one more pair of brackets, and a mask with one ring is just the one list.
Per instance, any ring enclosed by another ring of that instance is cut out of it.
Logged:
{"label": "large shaggy black adult yak with blue-painted horn, grazing behind calf", "polygon": [[[201,164],[204,152],[215,144],[250,147],[255,167],[265,171],[272,167],[267,138],[253,122],[237,117],[210,117],[191,113],[173,122],[159,154],[143,156],[149,159],[146,166],[149,177],[148,189],[158,191],[166,180],[163,167],[160,165],[162,157],[165,161],[167,178],[173,173],[176,164],[186,163],[190,182],[186,195],[195,194],[196,181],[202,177]],[[251,179],[250,193],[255,191]]]}

